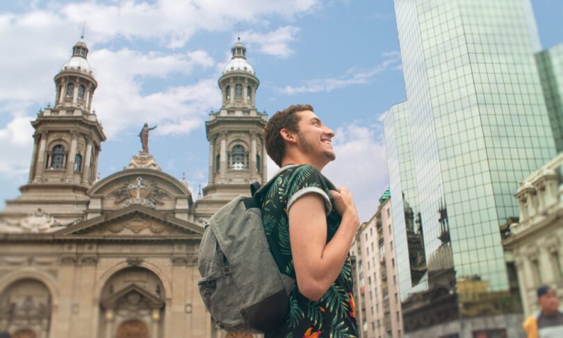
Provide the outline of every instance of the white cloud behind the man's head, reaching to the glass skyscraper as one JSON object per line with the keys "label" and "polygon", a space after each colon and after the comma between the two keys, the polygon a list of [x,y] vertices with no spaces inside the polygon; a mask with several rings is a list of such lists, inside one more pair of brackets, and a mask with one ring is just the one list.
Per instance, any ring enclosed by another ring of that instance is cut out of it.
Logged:
{"label": "white cloud behind the man's head, reaching to the glass skyscraper", "polygon": [[[336,186],[350,189],[360,222],[366,222],[389,187],[381,124],[347,124],[336,129],[335,134],[332,145],[336,160],[325,167],[323,175]],[[268,178],[278,169],[268,157]]]}

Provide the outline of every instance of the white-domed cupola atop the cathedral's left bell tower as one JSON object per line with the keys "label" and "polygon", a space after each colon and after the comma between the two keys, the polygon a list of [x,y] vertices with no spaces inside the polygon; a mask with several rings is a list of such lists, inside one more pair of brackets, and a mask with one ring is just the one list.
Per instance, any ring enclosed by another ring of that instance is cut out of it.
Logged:
{"label": "white-domed cupola atop the cathedral's left bell tower", "polygon": [[98,83],[88,63],[88,47],[80,40],[72,47],[72,56],[55,76],[56,107],[81,108],[90,112]]}

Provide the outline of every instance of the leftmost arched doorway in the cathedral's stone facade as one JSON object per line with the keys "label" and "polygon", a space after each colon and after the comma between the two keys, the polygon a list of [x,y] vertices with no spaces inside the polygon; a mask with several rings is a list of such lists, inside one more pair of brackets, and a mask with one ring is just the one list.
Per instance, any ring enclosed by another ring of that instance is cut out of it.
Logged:
{"label": "leftmost arched doorway in the cathedral's stone facade", "polygon": [[51,293],[39,280],[16,280],[0,293],[0,327],[13,337],[47,337],[51,325]]}

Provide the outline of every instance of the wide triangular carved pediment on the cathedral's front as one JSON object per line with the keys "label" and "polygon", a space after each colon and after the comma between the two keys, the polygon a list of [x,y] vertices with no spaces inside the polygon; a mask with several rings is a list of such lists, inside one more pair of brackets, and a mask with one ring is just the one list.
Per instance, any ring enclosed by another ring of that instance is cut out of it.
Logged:
{"label": "wide triangular carved pediment on the cathedral's front", "polygon": [[138,204],[72,225],[58,236],[104,239],[200,239],[203,227]]}

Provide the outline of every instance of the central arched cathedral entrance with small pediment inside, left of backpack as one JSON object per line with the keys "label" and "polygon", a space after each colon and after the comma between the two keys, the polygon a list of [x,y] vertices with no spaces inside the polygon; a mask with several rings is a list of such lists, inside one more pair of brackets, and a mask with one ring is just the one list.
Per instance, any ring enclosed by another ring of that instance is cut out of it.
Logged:
{"label": "central arched cathedral entrance with small pediment inside, left of backpack", "polygon": [[101,289],[99,337],[163,337],[164,300],[163,284],[149,269],[117,271]]}

